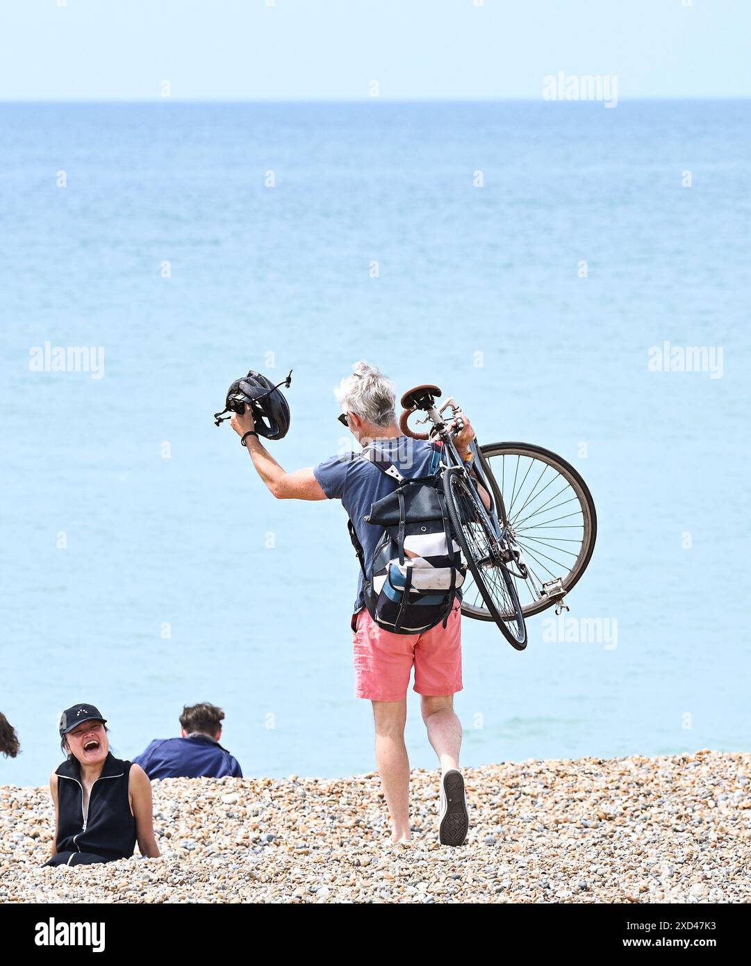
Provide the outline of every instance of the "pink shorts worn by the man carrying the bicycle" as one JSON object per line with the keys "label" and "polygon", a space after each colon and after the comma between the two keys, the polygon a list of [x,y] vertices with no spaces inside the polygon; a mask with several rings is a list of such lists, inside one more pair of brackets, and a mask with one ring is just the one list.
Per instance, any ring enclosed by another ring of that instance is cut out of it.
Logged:
{"label": "pink shorts worn by the man carrying the bicycle", "polygon": [[443,621],[423,634],[392,634],[378,627],[367,608],[352,618],[355,697],[401,701],[415,668],[418,695],[453,695],[461,691],[461,605],[456,601],[446,630]]}

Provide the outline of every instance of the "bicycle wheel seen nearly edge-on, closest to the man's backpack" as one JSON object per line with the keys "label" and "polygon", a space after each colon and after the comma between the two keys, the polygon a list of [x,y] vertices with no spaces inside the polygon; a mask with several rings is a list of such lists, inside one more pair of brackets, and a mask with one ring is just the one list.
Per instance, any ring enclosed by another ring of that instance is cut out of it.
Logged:
{"label": "bicycle wheel seen nearly edge-on, closest to the man's backpack", "polygon": [[[521,611],[515,580],[501,560],[503,545],[487,522],[480,497],[468,483],[462,467],[443,473],[443,492],[454,534],[461,553],[482,595],[487,619],[494,620],[503,636],[517,651],[527,646],[527,628]],[[462,611],[463,593],[462,584]]]}

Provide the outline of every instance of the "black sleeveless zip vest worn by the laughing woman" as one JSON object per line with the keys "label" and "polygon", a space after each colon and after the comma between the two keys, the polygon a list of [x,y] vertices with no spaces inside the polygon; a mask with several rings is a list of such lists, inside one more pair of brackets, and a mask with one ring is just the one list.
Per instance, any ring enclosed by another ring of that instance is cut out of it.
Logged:
{"label": "black sleeveless zip vest worn by the laughing woman", "polygon": [[58,776],[58,852],[93,852],[103,859],[127,859],[135,848],[135,818],[130,813],[127,781],[130,761],[107,753],[101,775],[89,792],[83,817],[81,765],[70,756],[55,769]]}

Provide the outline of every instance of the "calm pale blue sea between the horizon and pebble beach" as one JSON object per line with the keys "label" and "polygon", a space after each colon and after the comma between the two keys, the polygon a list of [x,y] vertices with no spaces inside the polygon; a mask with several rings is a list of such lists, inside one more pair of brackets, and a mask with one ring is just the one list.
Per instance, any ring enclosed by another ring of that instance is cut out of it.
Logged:
{"label": "calm pale blue sea between the horizon and pebble beach", "polygon": [[[23,746],[0,781],[46,781],[82,700],[121,756],[209,700],[246,774],[374,767],[344,511],[275,501],[211,419],[247,368],[292,367],[269,449],[312,466],[361,357],[441,385],[481,441],[560,453],[598,505],[569,602],[618,646],[545,643],[539,616],[519,654],[465,620],[463,761],[748,750],[750,131],[743,101],[0,106],[0,709]],[[722,378],[650,372],[665,340],[722,347]],[[31,372],[46,341],[104,347],[104,377]],[[409,717],[432,767],[411,691]]]}

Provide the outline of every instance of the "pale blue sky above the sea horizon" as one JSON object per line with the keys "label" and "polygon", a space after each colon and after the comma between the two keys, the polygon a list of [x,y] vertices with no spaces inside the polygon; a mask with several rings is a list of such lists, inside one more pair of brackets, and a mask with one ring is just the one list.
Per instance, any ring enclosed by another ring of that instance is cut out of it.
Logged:
{"label": "pale blue sky above the sea horizon", "polygon": [[560,70],[751,96],[749,0],[476,3],[2,0],[0,99],[538,99]]}

